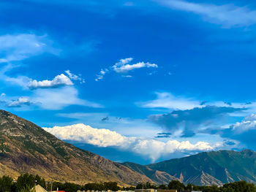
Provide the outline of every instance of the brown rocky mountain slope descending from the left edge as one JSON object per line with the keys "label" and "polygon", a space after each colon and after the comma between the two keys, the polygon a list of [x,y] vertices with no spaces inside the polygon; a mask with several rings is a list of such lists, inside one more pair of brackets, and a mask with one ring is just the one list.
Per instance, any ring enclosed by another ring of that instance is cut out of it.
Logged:
{"label": "brown rocky mountain slope descending from the left edge", "polygon": [[127,166],[62,142],[34,123],[0,110],[0,174],[39,174],[46,180],[73,183],[152,182]]}

